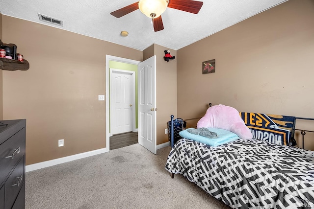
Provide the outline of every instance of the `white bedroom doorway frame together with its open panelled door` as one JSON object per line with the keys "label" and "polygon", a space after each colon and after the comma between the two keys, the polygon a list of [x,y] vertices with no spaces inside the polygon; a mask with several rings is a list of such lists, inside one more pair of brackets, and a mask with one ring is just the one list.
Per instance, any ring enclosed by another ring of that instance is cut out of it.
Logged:
{"label": "white bedroom doorway frame together with its open panelled door", "polygon": [[[109,68],[110,61],[115,61],[118,63],[132,64],[136,67],[136,72],[140,73],[135,77],[138,81],[135,81],[135,84],[138,85],[138,91],[135,90],[138,94],[138,98],[135,101],[136,110],[138,114],[135,115],[138,117],[138,143],[156,154],[157,149],[157,136],[156,136],[156,55],[151,58],[140,62],[135,60],[129,60],[120,57],[114,57],[106,55],[106,151],[110,150],[110,137],[112,136],[110,123],[110,111],[112,107],[109,108],[110,103],[110,94],[109,94]],[[113,67],[112,67],[113,68]],[[120,69],[120,68],[119,68]],[[138,107],[138,108],[137,108]]]}

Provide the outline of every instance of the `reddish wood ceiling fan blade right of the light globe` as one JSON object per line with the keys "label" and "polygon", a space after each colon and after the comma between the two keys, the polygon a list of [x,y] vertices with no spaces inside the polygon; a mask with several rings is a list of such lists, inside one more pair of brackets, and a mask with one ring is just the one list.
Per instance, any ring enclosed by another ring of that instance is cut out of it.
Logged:
{"label": "reddish wood ceiling fan blade right of the light globe", "polygon": [[169,0],[168,7],[185,12],[197,14],[203,6],[202,1],[195,0]]}

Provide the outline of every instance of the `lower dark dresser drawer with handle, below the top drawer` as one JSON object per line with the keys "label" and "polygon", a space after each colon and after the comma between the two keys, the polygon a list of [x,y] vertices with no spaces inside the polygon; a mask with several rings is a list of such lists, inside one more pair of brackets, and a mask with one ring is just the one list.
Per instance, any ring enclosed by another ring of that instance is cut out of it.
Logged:
{"label": "lower dark dresser drawer with handle, below the top drawer", "polygon": [[5,209],[11,209],[25,182],[24,157],[14,168],[9,178],[5,181]]}

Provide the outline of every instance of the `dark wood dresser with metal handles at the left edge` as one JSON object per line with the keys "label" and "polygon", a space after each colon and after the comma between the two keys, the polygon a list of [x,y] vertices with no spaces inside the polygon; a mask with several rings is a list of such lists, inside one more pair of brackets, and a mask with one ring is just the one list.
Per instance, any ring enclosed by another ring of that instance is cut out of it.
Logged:
{"label": "dark wood dresser with metal handles at the left edge", "polygon": [[26,119],[0,122],[0,209],[25,209]]}

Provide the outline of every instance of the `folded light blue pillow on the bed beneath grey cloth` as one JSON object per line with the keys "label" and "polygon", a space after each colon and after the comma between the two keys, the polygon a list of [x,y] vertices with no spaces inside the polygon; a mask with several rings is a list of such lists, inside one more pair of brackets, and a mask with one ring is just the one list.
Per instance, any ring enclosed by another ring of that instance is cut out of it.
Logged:
{"label": "folded light blue pillow on the bed beneath grey cloth", "polygon": [[180,136],[185,139],[191,139],[194,141],[207,144],[209,146],[219,146],[221,144],[225,144],[225,143],[234,141],[236,139],[240,139],[235,133],[231,131],[227,131],[225,129],[220,129],[220,128],[208,128],[209,131],[214,132],[218,135],[218,137],[214,139],[209,139],[200,135],[191,134],[187,131],[189,129],[194,129],[194,128],[188,128],[181,131],[179,133]]}

